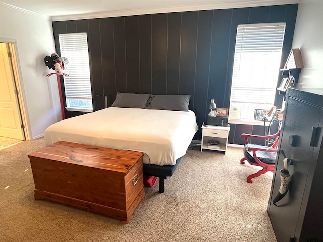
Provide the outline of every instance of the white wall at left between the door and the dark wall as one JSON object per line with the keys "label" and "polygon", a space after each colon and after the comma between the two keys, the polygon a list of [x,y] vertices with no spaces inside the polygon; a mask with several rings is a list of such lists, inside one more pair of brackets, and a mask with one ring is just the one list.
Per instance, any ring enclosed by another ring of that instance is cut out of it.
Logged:
{"label": "white wall at left between the door and the dark wall", "polygon": [[53,70],[44,63],[44,57],[55,52],[51,22],[0,5],[0,41],[4,39],[17,43],[29,139],[41,137],[49,125],[62,119],[56,75],[46,77]]}

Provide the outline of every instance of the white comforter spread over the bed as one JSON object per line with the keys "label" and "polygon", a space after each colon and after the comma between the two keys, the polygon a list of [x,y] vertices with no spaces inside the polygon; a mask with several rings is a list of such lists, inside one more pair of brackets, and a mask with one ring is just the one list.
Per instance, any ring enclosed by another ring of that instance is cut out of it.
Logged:
{"label": "white comforter spread over the bed", "polygon": [[141,151],[145,164],[162,166],[186,154],[196,131],[192,111],[109,107],[53,124],[44,139]]}

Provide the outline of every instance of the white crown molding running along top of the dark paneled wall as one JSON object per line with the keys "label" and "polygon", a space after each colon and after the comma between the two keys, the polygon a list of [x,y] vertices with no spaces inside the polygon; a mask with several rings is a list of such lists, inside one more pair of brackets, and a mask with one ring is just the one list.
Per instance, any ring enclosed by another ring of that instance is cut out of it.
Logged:
{"label": "white crown molding running along top of the dark paneled wall", "polygon": [[231,9],[231,8],[246,8],[246,7],[260,7],[268,5],[283,5],[283,4],[297,4],[300,0],[247,0],[244,2],[234,1],[230,3],[214,3],[206,5],[181,5],[181,6],[170,6],[164,8],[153,8],[153,9],[128,9],[118,11],[103,11],[97,13],[86,13],[86,14],[74,14],[74,15],[60,15],[52,16],[51,21],[66,21],[66,20],[78,20],[78,19],[96,19],[96,18],[107,18],[107,17],[120,17],[120,16],[132,16],[132,15],[143,15],[143,14],[157,14],[157,13],[172,13],[172,12],[185,12],[185,11],[199,11],[199,10],[212,10],[212,9]]}

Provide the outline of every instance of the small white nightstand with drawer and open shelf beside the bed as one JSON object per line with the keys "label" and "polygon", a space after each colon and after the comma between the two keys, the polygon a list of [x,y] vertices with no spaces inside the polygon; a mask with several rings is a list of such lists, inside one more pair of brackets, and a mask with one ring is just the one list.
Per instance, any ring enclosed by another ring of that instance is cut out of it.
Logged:
{"label": "small white nightstand with drawer and open shelf beside the bed", "polygon": [[[202,125],[201,152],[203,149],[226,152],[230,126]],[[220,142],[220,148],[207,147],[209,140]]]}

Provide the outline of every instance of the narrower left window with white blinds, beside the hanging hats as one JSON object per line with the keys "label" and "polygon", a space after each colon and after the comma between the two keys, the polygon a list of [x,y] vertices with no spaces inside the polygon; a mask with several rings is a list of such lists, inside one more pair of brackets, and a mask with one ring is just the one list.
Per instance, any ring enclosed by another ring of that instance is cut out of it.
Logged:
{"label": "narrower left window with white blinds, beside the hanging hats", "polygon": [[61,57],[68,59],[64,76],[66,109],[93,110],[86,33],[59,34]]}

